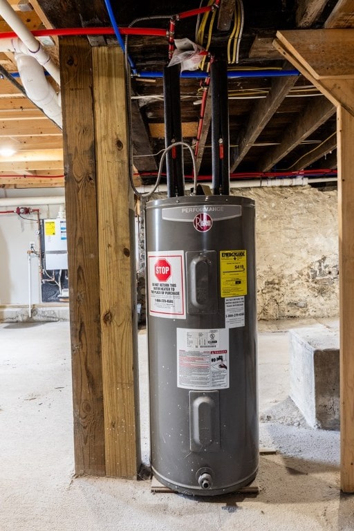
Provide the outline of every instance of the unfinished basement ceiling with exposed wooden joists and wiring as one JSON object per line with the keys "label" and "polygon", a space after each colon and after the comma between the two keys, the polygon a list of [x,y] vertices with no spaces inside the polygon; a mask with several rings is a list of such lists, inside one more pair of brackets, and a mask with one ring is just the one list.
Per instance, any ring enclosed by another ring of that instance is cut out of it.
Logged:
{"label": "unfinished basement ceiling with exposed wooden joists and wiring", "polygon": [[[133,163],[143,181],[149,183],[155,178],[165,148],[163,80],[159,76],[169,64],[169,44],[172,53],[179,39],[184,38],[207,52],[198,57],[198,70],[192,71],[192,77],[184,77],[187,71],[183,70],[180,78],[183,140],[196,153],[201,179],[210,178],[212,173],[208,76],[209,62],[214,57],[227,62],[228,69],[231,178],[287,176],[303,169],[323,175],[335,169],[335,107],[292,65],[284,62],[272,42],[277,30],[351,28],[353,1],[221,0],[214,2],[220,4],[218,8],[204,13],[191,10],[212,7],[213,2],[145,1],[141,5],[104,0],[10,0],[8,3],[31,31],[102,28],[103,34],[106,28],[112,30],[113,21],[122,35],[127,26],[162,30],[162,35],[141,35],[136,30],[138,35],[121,37],[127,44],[132,68]],[[171,28],[171,20],[174,35],[168,39],[166,32]],[[77,38],[89,39],[92,46],[113,46],[119,40],[117,28],[111,35]],[[10,30],[0,20],[0,32]],[[52,37],[51,43],[48,39],[44,41],[44,48],[56,63],[61,38]],[[3,146],[16,150],[12,156],[0,156],[0,185],[62,186],[60,127],[24,95],[14,54],[1,52],[0,64],[0,149]],[[59,86],[47,77],[59,91]],[[184,167],[186,178],[192,178],[192,156],[187,149]]]}

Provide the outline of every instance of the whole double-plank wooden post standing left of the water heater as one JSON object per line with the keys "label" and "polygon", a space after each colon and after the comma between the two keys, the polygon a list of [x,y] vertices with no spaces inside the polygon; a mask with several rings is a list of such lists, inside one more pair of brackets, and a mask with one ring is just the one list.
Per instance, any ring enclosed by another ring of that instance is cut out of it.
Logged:
{"label": "whole double-plank wooden post standing left of the water heater", "polygon": [[60,41],[60,64],[75,473],[133,478],[140,448],[124,57],[73,37]]}

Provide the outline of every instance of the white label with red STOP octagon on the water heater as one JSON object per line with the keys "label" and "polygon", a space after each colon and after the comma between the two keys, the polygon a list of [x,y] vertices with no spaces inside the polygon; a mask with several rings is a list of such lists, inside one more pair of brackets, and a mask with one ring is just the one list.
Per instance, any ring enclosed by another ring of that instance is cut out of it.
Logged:
{"label": "white label with red STOP octagon on the water heater", "polygon": [[150,315],[185,319],[184,263],[184,251],[147,253]]}

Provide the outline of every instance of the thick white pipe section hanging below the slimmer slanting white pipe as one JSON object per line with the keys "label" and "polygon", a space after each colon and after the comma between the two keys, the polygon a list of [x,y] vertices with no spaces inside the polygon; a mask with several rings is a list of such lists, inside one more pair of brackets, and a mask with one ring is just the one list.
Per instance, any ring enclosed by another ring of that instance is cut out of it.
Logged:
{"label": "thick white pipe section hanging below the slimmer slanting white pipe", "polygon": [[15,53],[19,77],[29,99],[62,128],[62,109],[57,93],[44,75],[44,70],[34,57],[24,53]]}

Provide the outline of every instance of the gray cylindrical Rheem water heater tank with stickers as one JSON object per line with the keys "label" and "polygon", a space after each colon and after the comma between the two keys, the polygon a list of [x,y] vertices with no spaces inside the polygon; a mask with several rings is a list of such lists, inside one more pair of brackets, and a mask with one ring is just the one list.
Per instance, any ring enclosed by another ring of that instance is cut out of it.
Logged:
{"label": "gray cylindrical Rheem water heater tank with stickers", "polygon": [[254,201],[150,201],[145,223],[151,469],[234,492],[259,465]]}

